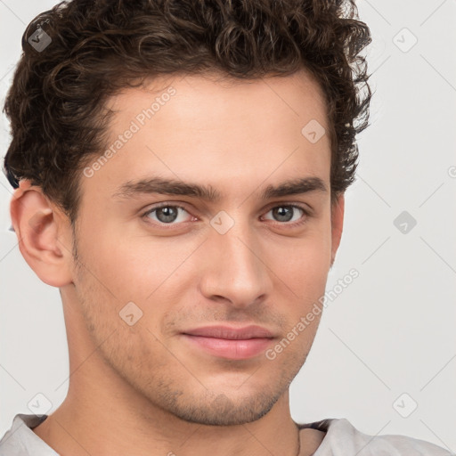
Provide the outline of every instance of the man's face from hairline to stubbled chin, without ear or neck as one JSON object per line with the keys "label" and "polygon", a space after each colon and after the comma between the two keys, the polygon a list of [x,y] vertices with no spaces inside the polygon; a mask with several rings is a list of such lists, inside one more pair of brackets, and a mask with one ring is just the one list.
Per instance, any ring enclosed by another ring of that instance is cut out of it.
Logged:
{"label": "man's face from hairline to stubbled chin, without ear or neck", "polygon": [[330,138],[302,133],[328,131],[322,100],[304,72],[110,100],[111,153],[81,175],[71,305],[111,374],[160,409],[249,422],[305,362],[341,223]]}

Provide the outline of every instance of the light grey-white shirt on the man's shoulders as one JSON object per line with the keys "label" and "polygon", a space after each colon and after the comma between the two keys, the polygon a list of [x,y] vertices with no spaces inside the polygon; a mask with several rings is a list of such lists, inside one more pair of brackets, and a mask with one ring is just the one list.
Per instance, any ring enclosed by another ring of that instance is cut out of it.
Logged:
{"label": "light grey-white shirt on the man's shoulders", "polygon": [[[0,456],[59,456],[32,431],[46,418],[17,414],[0,440]],[[435,444],[407,436],[367,436],[346,419],[322,419],[299,427],[326,432],[314,456],[454,456]]]}

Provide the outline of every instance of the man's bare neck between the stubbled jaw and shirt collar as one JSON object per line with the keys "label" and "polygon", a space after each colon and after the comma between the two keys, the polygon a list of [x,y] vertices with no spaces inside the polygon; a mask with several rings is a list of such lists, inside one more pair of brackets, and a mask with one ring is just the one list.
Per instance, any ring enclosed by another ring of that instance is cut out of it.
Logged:
{"label": "man's bare neck between the stubbled jaw and shirt collar", "polygon": [[121,456],[132,450],[135,456],[298,453],[298,430],[289,415],[288,392],[261,419],[224,427],[183,421],[144,403],[132,391],[126,394],[127,388],[111,389],[109,383],[71,387],[61,407],[35,428],[37,436],[56,452],[74,456]]}

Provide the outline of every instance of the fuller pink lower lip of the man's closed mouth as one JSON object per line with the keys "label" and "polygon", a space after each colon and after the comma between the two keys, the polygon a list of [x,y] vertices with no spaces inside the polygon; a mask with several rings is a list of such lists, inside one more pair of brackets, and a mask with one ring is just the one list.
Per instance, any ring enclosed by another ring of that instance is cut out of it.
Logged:
{"label": "fuller pink lower lip of the man's closed mouth", "polygon": [[184,338],[209,354],[232,360],[246,360],[261,354],[271,344],[271,338],[226,339],[184,334]]}

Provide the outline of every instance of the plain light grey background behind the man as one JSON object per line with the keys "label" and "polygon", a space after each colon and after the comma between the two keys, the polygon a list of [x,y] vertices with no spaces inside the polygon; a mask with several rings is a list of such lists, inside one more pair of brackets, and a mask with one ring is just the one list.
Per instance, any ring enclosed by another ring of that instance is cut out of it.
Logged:
{"label": "plain light grey background behind the man", "polygon": [[[0,0],[2,106],[22,32],[53,4]],[[300,422],[345,417],[367,434],[414,436],[456,452],[456,1],[358,5],[373,36],[376,93],[327,289],[352,268],[360,275],[328,302],[291,387],[292,414]],[[54,411],[69,377],[60,295],[37,279],[8,231],[11,192],[0,175],[0,436],[16,413],[31,413],[39,392]],[[403,211],[417,221],[407,233],[394,224]]]}

